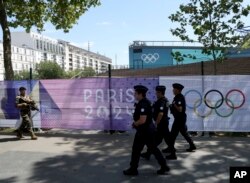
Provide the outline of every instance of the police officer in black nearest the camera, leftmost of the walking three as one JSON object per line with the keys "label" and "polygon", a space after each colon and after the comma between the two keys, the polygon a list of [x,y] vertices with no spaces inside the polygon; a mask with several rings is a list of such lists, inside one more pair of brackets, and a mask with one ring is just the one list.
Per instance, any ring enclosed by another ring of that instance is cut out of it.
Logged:
{"label": "police officer in black nearest the camera, leftmost of the walking three", "polygon": [[150,152],[154,154],[161,166],[161,169],[157,171],[157,174],[165,174],[170,169],[155,143],[156,129],[152,121],[152,107],[150,101],[146,98],[146,92],[148,89],[142,85],[134,86],[134,89],[135,99],[138,103],[135,107],[133,115],[134,123],[132,126],[136,129],[136,134],[132,147],[130,168],[124,170],[123,174],[132,176],[138,175],[137,168],[140,160],[140,154],[145,145],[149,148]]}

